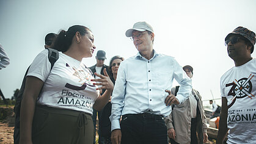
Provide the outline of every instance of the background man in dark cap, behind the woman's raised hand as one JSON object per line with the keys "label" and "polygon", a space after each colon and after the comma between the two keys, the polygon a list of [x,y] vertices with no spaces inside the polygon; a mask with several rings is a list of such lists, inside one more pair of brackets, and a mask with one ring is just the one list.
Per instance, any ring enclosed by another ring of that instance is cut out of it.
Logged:
{"label": "background man in dark cap, behind the woman's raised hand", "polygon": [[[95,65],[93,65],[92,67],[90,67],[90,70],[92,70],[92,73],[100,73],[100,74],[104,74],[104,68],[106,68],[107,72],[109,72],[108,66],[104,65],[104,61],[106,58],[106,52],[99,50],[97,52],[97,55],[95,57],[97,63]],[[98,78],[98,76],[93,75],[96,79]],[[100,94],[104,93],[105,90],[101,90]],[[101,132],[100,132],[100,121],[101,121],[101,115],[102,112],[101,111],[97,111],[95,109],[93,109],[93,115],[92,115],[92,120],[93,120],[93,125],[94,125],[94,140],[93,140],[93,144],[96,143],[95,142],[95,136],[96,136],[96,121],[97,121],[97,116],[98,116],[98,121],[99,121],[99,129],[98,129],[98,143],[99,144],[103,144],[104,143],[104,137],[101,136]]]}

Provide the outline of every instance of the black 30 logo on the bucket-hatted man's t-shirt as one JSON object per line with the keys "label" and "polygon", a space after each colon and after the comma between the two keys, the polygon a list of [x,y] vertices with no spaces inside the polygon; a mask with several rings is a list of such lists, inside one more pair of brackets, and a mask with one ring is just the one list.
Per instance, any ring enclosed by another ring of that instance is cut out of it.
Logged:
{"label": "black 30 logo on the bucket-hatted man's t-shirt", "polygon": [[248,96],[252,99],[254,95],[252,95],[252,82],[251,79],[254,77],[254,75],[250,74],[248,78],[243,77],[240,80],[233,81],[230,84],[226,84],[225,87],[231,87],[228,93],[228,96],[233,96],[232,103],[229,105],[231,107],[234,103],[236,98],[244,98]]}

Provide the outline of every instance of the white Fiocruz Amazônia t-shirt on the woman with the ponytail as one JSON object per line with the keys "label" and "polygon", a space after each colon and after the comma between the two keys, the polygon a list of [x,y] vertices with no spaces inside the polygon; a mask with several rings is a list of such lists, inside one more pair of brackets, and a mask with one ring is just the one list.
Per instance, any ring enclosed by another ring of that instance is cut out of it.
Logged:
{"label": "white Fiocruz Amaz\u00f4nia t-shirt on the woman with the ponytail", "polygon": [[84,63],[59,52],[59,59],[51,70],[48,50],[45,49],[29,68],[27,76],[35,76],[44,83],[37,104],[92,114],[92,106],[99,96],[90,70]]}

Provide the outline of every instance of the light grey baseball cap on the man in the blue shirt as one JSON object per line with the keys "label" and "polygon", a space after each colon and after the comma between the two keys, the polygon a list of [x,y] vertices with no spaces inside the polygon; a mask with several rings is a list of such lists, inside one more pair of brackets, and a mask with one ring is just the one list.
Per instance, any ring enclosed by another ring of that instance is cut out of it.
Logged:
{"label": "light grey baseball cap on the man in the blue shirt", "polygon": [[140,32],[144,32],[144,31],[154,32],[152,26],[150,26],[145,21],[140,21],[140,22],[133,24],[133,29],[128,29],[125,32],[126,37],[131,37],[134,30],[140,31]]}

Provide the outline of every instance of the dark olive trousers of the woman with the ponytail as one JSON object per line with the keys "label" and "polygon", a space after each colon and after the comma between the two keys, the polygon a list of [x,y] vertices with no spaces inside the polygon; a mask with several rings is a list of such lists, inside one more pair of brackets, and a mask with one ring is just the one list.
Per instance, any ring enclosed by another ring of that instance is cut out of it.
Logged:
{"label": "dark olive trousers of the woman with the ponytail", "polygon": [[92,144],[93,123],[89,113],[53,107],[35,107],[32,124],[34,144]]}

